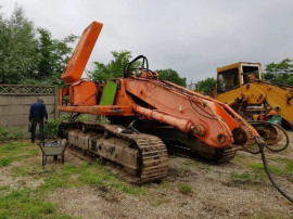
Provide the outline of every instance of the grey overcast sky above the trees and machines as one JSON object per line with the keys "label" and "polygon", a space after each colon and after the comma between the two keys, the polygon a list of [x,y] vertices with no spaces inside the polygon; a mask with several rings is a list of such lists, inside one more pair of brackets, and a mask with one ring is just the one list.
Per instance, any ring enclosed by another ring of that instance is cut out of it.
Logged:
{"label": "grey overcast sky above the trees and machines", "polygon": [[129,50],[190,83],[234,62],[293,59],[293,0],[0,0],[1,12],[9,16],[15,2],[58,39],[103,23],[87,68]]}

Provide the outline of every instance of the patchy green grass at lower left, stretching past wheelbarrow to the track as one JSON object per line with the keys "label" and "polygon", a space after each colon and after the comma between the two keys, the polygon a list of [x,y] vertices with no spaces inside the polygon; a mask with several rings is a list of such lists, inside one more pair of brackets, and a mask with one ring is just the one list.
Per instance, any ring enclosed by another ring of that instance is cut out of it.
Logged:
{"label": "patchy green grass at lower left, stretching past wheelbarrow to the track", "polygon": [[[38,163],[35,162],[37,156]],[[146,194],[145,189],[116,178],[99,162],[93,165],[84,163],[42,167],[37,145],[25,141],[0,144],[0,168],[11,166],[15,162],[20,165],[12,166],[10,176],[18,178],[18,182],[25,177],[24,183],[21,185],[18,183],[17,189],[0,186],[0,219],[73,218],[64,212],[58,212],[54,203],[47,199],[49,194],[60,188],[102,185],[131,195]],[[43,183],[34,189],[27,188],[25,182],[27,179],[42,179]]]}

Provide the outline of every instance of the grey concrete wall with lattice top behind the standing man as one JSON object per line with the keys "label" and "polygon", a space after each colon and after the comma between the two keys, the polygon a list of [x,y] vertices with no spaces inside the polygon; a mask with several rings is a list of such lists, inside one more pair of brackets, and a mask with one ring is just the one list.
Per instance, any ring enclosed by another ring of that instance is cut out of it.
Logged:
{"label": "grey concrete wall with lattice top behind the standing man", "polygon": [[46,104],[48,117],[59,116],[59,90],[52,86],[0,85],[0,126],[20,127],[29,137],[29,108],[38,98]]}

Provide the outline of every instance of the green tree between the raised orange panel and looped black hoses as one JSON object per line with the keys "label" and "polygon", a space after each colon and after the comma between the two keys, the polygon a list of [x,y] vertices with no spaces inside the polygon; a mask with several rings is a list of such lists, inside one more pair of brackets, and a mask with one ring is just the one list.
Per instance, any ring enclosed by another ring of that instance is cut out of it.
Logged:
{"label": "green tree between the raised orange panel and looped black hoses", "polygon": [[89,72],[90,77],[94,81],[104,80],[109,78],[118,78],[124,74],[124,67],[130,62],[131,52],[127,50],[112,51],[113,59],[103,64],[100,62],[93,62],[94,68]]}

